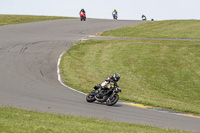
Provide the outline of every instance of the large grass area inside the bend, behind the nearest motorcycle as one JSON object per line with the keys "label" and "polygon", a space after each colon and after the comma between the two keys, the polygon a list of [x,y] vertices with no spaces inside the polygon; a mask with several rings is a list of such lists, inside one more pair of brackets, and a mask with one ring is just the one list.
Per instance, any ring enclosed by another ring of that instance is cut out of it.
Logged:
{"label": "large grass area inside the bend, behind the nearest motorcycle", "polygon": [[121,100],[200,114],[200,42],[89,40],[63,56],[63,80],[89,92],[120,73]]}

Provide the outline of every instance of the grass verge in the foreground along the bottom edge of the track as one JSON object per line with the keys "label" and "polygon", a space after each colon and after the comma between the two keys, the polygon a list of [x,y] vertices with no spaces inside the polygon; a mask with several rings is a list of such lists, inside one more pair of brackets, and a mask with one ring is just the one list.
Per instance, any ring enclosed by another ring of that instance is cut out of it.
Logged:
{"label": "grass verge in the foreground along the bottom edge of the track", "polygon": [[55,115],[0,107],[0,132],[3,133],[186,133],[137,124],[109,122],[93,118]]}

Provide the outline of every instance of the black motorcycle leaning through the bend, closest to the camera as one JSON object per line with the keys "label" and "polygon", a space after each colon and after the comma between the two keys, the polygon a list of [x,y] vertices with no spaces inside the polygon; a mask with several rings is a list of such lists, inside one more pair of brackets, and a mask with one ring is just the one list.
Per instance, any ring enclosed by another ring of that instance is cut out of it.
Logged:
{"label": "black motorcycle leaning through the bend, closest to the camera", "polygon": [[118,86],[108,85],[105,90],[98,84],[94,86],[94,89],[95,90],[91,91],[86,96],[87,102],[94,102],[97,100],[98,102],[106,102],[106,105],[112,106],[119,100],[119,95],[117,93],[121,92],[121,89]]}

